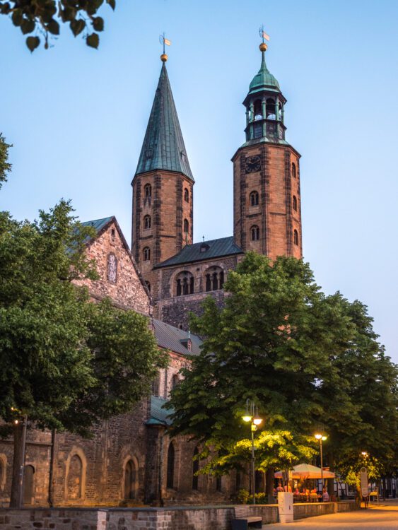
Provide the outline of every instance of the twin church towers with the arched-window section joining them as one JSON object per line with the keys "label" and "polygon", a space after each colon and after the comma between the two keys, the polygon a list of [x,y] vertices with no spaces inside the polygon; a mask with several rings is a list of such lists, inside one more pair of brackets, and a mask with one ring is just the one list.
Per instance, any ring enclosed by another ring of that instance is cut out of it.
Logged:
{"label": "twin church towers with the arched-window section joining them", "polygon": [[247,250],[303,256],[300,154],[286,141],[286,98],[265,62],[243,105],[245,142],[233,162],[233,235],[193,242],[194,176],[166,69],[153,101],[133,187],[131,249],[163,322],[187,329],[206,295],[223,302],[223,283]]}

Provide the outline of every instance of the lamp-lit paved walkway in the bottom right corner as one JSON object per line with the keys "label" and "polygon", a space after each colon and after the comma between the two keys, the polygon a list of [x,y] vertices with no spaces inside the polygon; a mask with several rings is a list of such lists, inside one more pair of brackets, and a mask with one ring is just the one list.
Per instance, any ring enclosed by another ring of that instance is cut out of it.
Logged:
{"label": "lamp-lit paved walkway in the bottom right corner", "polygon": [[282,528],[286,530],[314,530],[331,528],[333,530],[398,530],[398,502],[380,501],[380,505],[372,505],[367,510],[357,510],[341,514],[320,515],[319,517],[308,517],[293,523],[266,524],[264,530]]}

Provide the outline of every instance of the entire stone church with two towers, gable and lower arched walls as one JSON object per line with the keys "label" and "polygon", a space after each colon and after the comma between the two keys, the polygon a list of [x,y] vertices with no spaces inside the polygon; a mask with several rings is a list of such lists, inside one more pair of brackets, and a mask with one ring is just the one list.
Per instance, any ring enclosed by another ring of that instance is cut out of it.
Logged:
{"label": "entire stone church with two towers, gable and lower arched walls", "polygon": [[[23,500],[26,506],[170,505],[227,502],[247,476],[196,476],[197,447],[170,440],[162,406],[180,369],[198,355],[187,314],[207,295],[223,304],[223,284],[247,250],[302,257],[300,155],[286,141],[285,105],[278,81],[262,62],[250,83],[245,142],[233,155],[233,235],[193,242],[194,177],[189,166],[167,56],[132,180],[131,251],[115,217],[88,221],[87,244],[100,279],[82,281],[93,300],[145,314],[170,363],[153,395],[131,413],[105,421],[91,440],[67,432],[28,430]],[[11,490],[13,444],[0,440],[0,506]],[[263,480],[261,476],[259,481]],[[257,488],[259,490],[259,488]]]}

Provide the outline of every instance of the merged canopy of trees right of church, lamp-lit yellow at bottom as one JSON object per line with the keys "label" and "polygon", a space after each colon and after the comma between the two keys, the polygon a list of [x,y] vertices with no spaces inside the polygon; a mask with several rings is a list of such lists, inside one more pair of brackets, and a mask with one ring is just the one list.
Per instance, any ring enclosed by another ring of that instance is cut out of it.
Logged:
{"label": "merged canopy of trees right of church, lamp-lit yellow at bottom", "polygon": [[309,461],[318,429],[329,435],[325,450],[334,459],[364,444],[379,454],[383,438],[392,457],[397,367],[377,343],[366,307],[324,295],[308,264],[291,257],[271,263],[249,252],[224,288],[223,309],[209,297],[202,316],[192,316],[204,345],[172,392],[172,434],[213,447],[204,456],[220,471],[250,456],[241,416],[252,399],[264,418],[259,469]]}

